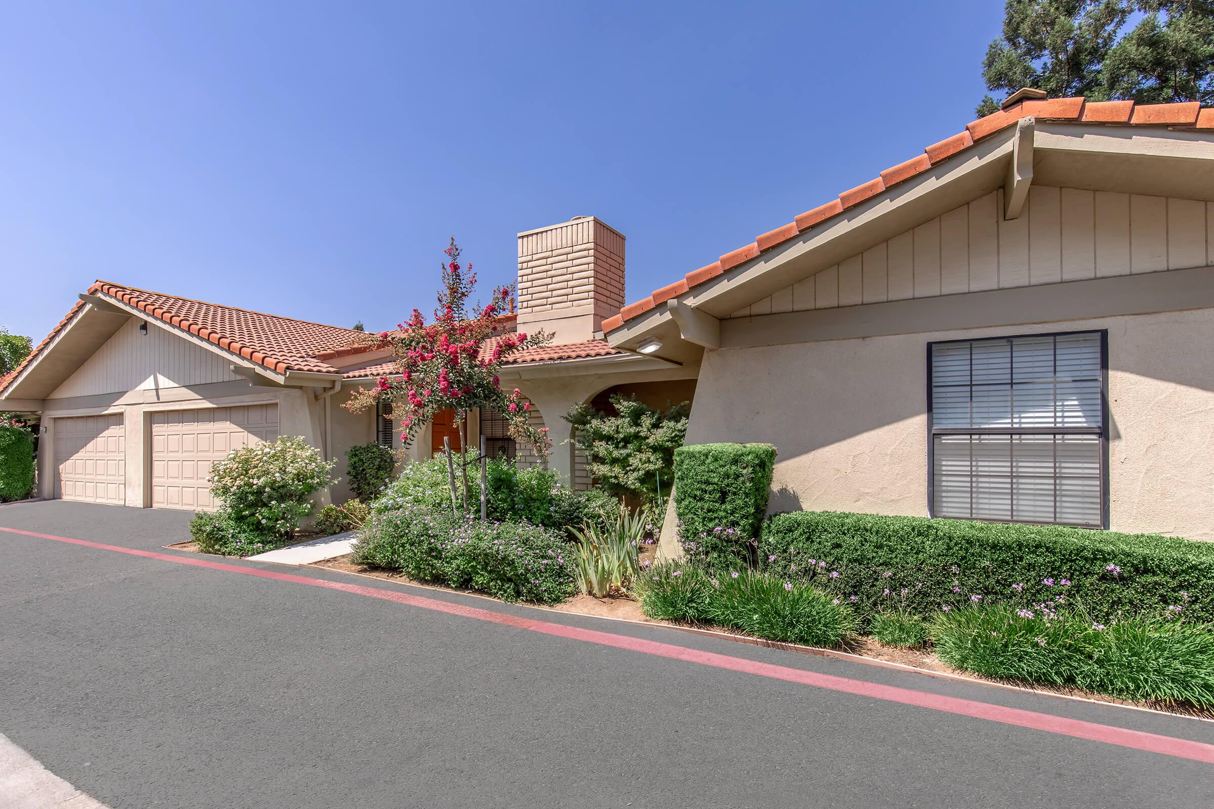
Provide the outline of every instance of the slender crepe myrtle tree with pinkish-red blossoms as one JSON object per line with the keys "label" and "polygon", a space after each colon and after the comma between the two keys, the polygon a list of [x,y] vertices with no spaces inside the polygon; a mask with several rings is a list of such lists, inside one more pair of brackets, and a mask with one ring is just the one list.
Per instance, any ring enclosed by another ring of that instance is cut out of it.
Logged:
{"label": "slender crepe myrtle tree with pinkish-red blossoms", "polygon": [[[374,388],[359,388],[346,403],[353,412],[370,409],[376,403],[391,404],[393,418],[402,428],[401,440],[408,443],[443,410],[455,411],[455,425],[460,438],[460,469],[463,473],[463,509],[467,511],[467,435],[464,426],[467,414],[477,408],[493,409],[506,418],[510,435],[534,448],[535,454],[546,457],[552,441],[548,428],[531,425],[524,401],[518,388],[503,391],[499,378],[501,364],[511,355],[551,342],[552,336],[541,332],[499,334],[501,318],[509,311],[512,286],[499,286],[489,303],[469,301],[476,287],[472,264],[459,263],[460,249],[452,237],[450,246],[443,251],[447,258],[442,267],[442,289],[433,320],[414,309],[407,323],[396,331],[384,331],[375,336],[379,348],[391,348],[395,369],[379,377]],[[452,498],[455,500],[455,472],[448,463]],[[482,492],[483,496],[483,492]],[[455,503],[452,503],[455,508]]]}

